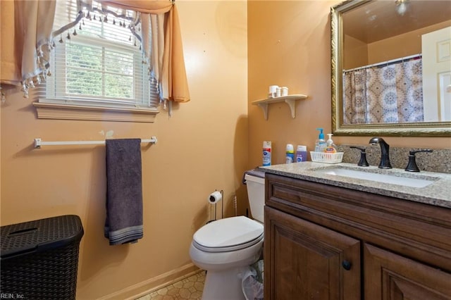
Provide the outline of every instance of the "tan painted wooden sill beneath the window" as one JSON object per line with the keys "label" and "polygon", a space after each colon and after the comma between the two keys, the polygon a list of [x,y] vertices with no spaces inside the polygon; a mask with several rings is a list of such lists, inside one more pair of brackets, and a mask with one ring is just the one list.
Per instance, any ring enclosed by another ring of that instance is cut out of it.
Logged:
{"label": "tan painted wooden sill beneath the window", "polygon": [[111,108],[34,102],[38,119],[154,123],[157,108]]}

